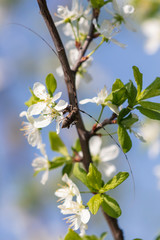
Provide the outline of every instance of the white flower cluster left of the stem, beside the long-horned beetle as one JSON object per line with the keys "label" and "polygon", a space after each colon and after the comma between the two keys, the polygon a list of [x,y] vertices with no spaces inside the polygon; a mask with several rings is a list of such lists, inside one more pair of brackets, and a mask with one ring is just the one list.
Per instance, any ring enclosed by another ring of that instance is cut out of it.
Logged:
{"label": "white flower cluster left of the stem, beside the long-horned beetle", "polygon": [[[23,122],[22,131],[27,136],[28,143],[32,147],[37,147],[42,156],[39,156],[33,160],[32,166],[35,171],[44,170],[41,183],[45,184],[49,174],[49,161],[45,151],[45,144],[42,143],[42,137],[40,128],[48,126],[53,120],[56,120],[56,131],[59,134],[60,123],[63,119],[62,111],[67,107],[68,103],[64,100],[56,101],[61,97],[62,93],[59,92],[55,96],[50,97],[46,91],[46,87],[39,82],[36,82],[33,86],[34,95],[39,98],[39,102],[31,105],[27,111],[20,113],[20,117],[26,117],[27,122]],[[33,116],[38,115],[37,118]]]}

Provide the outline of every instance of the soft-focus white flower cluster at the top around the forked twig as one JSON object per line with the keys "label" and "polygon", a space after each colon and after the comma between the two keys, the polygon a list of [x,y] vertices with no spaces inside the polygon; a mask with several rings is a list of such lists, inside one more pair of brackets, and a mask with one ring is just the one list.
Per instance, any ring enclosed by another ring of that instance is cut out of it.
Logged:
{"label": "soft-focus white flower cluster at the top around the forked twig", "polygon": [[[113,37],[119,33],[120,25],[125,23],[125,25],[133,30],[133,24],[130,21],[130,15],[134,12],[134,7],[129,4],[129,0],[113,0],[112,8],[114,12],[106,9],[112,16],[111,20],[104,20],[99,26],[96,19],[93,20],[93,24],[97,32],[103,36],[104,39],[112,41],[118,46],[124,48],[126,45],[118,42]],[[68,6],[58,6],[56,17],[60,18],[60,21],[56,22],[56,26],[64,24],[63,33],[70,38],[66,43],[66,50],[68,54],[68,59],[71,68],[74,66],[75,62],[78,60],[80,49],[86,39],[89,26],[91,23],[91,6],[89,5],[86,9],[81,4],[80,0],[72,0],[71,10]],[[78,88],[82,79],[86,82],[92,80],[91,75],[87,72],[87,68],[91,65],[92,58],[90,57],[86,60],[81,67],[78,69],[76,74],[76,87]],[[56,70],[59,76],[63,76],[63,71],[61,66]]]}

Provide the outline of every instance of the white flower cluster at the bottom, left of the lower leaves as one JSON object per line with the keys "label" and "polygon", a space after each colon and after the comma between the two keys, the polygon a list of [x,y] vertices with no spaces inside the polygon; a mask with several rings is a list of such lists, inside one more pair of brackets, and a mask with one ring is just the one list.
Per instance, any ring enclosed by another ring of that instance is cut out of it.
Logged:
{"label": "white flower cluster at the bottom, left of the lower leaves", "polygon": [[[71,215],[65,219],[70,223],[70,227],[72,227],[73,230],[76,231],[80,229],[80,236],[84,236],[87,223],[90,219],[90,212],[88,209],[85,209],[78,187],[68,178],[67,174],[64,174],[62,181],[65,182],[67,186],[55,192],[55,195],[59,197],[59,201],[62,202],[58,208],[61,209],[62,214]],[[76,201],[73,200],[74,197]]]}

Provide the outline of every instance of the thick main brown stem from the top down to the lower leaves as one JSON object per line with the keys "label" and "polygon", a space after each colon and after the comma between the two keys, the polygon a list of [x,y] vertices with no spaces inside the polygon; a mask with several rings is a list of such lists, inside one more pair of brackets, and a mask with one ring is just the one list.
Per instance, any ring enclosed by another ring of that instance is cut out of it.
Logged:
{"label": "thick main brown stem from the top down to the lower leaves", "polygon": [[[66,83],[68,95],[69,95],[69,102],[72,106],[77,107],[78,101],[77,101],[77,94],[75,89],[75,74],[70,69],[63,43],[61,41],[57,28],[48,10],[46,0],[37,0],[37,2],[40,8],[40,12],[43,16],[43,19],[47,25],[47,28],[54,42],[59,60],[62,65],[64,79],[65,79],[65,83]],[[89,141],[88,132],[85,130],[79,111],[77,114],[77,118],[78,120],[76,123],[76,128],[77,128],[77,132],[79,135],[81,148],[83,152],[83,164],[85,166],[85,169],[88,171],[89,164],[92,162],[91,154],[89,151],[89,145],[88,145],[88,141]]]}

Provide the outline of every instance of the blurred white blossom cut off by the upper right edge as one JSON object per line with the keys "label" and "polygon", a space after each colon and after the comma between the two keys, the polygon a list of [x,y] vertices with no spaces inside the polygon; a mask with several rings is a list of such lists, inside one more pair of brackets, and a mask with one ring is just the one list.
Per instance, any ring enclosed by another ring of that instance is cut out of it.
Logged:
{"label": "blurred white blossom cut off by the upper right edge", "polygon": [[149,19],[141,26],[142,32],[146,36],[144,49],[148,54],[155,54],[160,48],[160,20]]}

